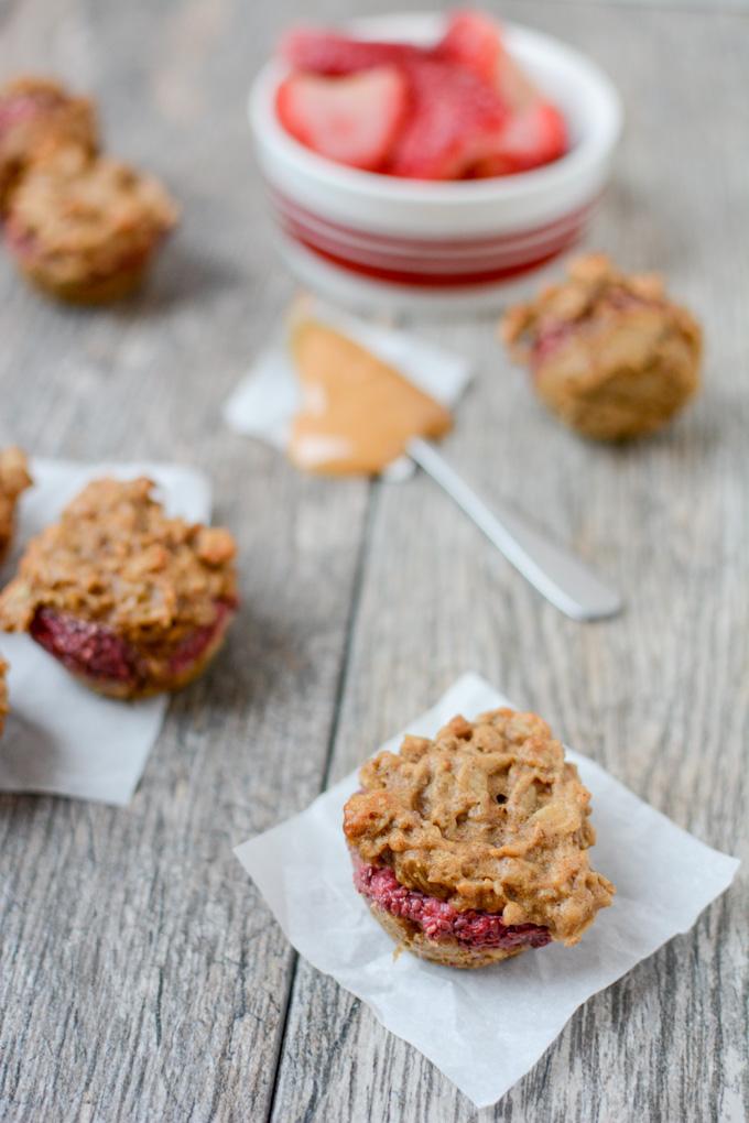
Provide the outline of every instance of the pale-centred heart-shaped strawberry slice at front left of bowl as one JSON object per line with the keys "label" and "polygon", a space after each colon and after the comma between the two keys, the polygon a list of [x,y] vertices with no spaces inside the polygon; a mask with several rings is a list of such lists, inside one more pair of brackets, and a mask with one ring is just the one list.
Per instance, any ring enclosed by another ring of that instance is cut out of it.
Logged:
{"label": "pale-centred heart-shaped strawberry slice at front left of bowl", "polygon": [[276,94],[278,118],[293,137],[320,156],[371,172],[389,158],[407,103],[407,81],[394,66],[348,77],[292,74]]}

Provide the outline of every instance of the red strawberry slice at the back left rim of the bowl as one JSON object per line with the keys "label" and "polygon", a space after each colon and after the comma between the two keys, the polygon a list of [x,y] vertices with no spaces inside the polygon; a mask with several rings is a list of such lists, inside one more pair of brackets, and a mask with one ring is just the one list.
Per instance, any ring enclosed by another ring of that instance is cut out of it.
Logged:
{"label": "red strawberry slice at the back left rim of the bowl", "polygon": [[407,43],[350,39],[307,27],[292,28],[281,42],[281,56],[293,70],[329,76],[393,65],[423,54],[419,47]]}

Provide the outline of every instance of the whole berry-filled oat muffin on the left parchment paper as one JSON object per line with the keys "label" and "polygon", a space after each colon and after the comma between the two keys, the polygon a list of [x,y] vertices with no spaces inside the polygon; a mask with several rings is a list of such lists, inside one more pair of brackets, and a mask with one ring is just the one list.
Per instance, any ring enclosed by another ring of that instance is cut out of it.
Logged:
{"label": "whole berry-filled oat muffin on the left parchment paper", "polygon": [[167,518],[153,487],[146,478],[89,484],[33,539],[0,594],[0,627],[28,632],[110,697],[191,683],[237,610],[229,531]]}

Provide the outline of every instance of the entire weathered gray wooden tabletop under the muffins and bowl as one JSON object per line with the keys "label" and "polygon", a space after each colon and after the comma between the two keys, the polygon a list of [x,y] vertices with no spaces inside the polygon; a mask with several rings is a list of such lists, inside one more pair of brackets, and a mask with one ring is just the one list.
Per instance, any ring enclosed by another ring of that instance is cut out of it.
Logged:
{"label": "entire weathered gray wooden tabletop under the muffins and bowl", "polygon": [[[665,270],[707,338],[697,404],[612,449],[536,405],[491,319],[419,325],[477,364],[449,458],[624,591],[623,615],[581,626],[427,478],[305,478],[220,422],[294,291],[263,214],[246,91],[311,7],[0,0],[0,75],[48,70],[94,91],[111,148],[184,203],[148,291],[112,310],[53,307],[0,264],[0,442],[204,467],[244,591],[228,649],[172,702],[130,806],[0,796],[0,1117],[742,1120],[745,874],[477,1113],[299,960],[231,848],[474,668],[682,827],[747,856],[749,22],[741,4],[502,9],[618,83],[628,128],[591,245]],[[313,7],[337,19],[392,0]]]}

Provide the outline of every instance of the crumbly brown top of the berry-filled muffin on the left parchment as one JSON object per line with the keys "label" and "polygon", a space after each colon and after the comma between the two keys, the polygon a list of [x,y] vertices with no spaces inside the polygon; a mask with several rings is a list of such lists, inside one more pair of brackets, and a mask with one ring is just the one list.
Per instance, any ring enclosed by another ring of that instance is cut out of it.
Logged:
{"label": "crumbly brown top of the berry-filled muffin on the left parchment", "polygon": [[235,603],[228,530],[170,519],[144,477],[90,483],[33,539],[0,594],[0,627],[26,631],[37,609],[100,623],[134,643],[179,640]]}

